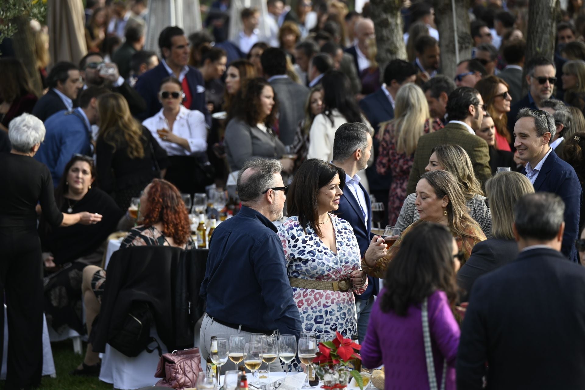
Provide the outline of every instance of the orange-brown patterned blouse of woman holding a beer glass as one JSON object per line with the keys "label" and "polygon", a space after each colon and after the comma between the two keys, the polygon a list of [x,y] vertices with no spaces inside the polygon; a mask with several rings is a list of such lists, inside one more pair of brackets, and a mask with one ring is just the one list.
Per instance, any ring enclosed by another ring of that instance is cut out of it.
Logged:
{"label": "orange-brown patterned blouse of woman holding a beer glass", "polygon": [[[404,236],[411,231],[412,227],[417,226],[419,223],[424,223],[424,221],[418,220],[417,222],[412,223],[412,225],[408,226],[406,230],[402,232],[400,237],[398,237],[398,239],[394,242],[394,245],[388,248],[386,256],[376,261],[376,265],[374,267],[369,267],[366,264],[366,260],[362,260],[362,271],[366,272],[366,274],[370,275],[371,277],[385,278],[388,264],[390,264],[390,261],[392,261],[394,256],[396,256],[396,253],[398,253],[398,250],[402,246],[402,240],[404,240]],[[479,243],[479,241],[486,240],[486,236],[476,226],[472,225],[467,227],[466,232],[469,234],[473,234],[479,237],[480,239],[479,240],[472,239],[471,237],[467,236],[462,237],[453,234],[453,237],[455,237],[455,241],[457,241],[457,247],[459,247],[459,251],[463,252],[463,258],[465,259],[465,261],[467,261],[469,256],[471,256],[475,244]],[[465,261],[462,261],[461,265],[465,264]]]}

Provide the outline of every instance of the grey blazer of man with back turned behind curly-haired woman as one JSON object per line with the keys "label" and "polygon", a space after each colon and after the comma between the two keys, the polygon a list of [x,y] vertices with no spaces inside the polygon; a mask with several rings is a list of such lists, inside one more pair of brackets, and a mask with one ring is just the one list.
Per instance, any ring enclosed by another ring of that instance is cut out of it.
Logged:
{"label": "grey blazer of man with back turned behind curly-haired woman", "polygon": [[291,145],[298,122],[305,118],[305,102],[309,88],[297,84],[288,77],[270,81],[278,100],[278,132],[285,145]]}

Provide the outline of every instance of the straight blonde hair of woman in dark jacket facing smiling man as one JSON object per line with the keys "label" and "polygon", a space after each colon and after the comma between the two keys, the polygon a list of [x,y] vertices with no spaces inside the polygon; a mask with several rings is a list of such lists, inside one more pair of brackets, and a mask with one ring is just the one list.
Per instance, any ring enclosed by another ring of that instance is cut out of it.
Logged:
{"label": "straight blonde hair of woman in dark jacket facing smiling man", "polygon": [[486,181],[490,200],[491,232],[494,237],[514,239],[514,206],[526,194],[534,194],[534,187],[518,172],[500,172]]}

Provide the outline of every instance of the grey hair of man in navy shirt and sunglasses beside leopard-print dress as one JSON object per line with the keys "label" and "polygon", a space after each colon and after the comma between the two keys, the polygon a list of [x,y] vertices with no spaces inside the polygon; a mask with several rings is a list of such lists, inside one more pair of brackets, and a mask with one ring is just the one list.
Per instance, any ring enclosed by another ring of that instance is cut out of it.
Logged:
{"label": "grey hair of man in navy shirt and sunglasses beside leopard-print dress", "polygon": [[[242,180],[242,174],[251,169],[253,172]],[[244,163],[238,173],[236,190],[242,202],[257,202],[266,189],[274,186],[274,174],[283,171],[283,164],[278,160],[255,158]]]}

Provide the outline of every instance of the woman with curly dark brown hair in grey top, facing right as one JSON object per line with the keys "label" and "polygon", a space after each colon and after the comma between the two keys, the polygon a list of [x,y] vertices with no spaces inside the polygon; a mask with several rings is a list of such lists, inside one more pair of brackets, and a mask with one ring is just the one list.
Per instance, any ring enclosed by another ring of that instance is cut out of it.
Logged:
{"label": "woman with curly dark brown hair in grey top, facing right", "polygon": [[243,85],[234,118],[225,129],[223,144],[233,172],[252,158],[280,158],[283,170],[290,173],[294,160],[282,158],[284,144],[274,133],[278,101],[274,90],[263,78],[253,78]]}

